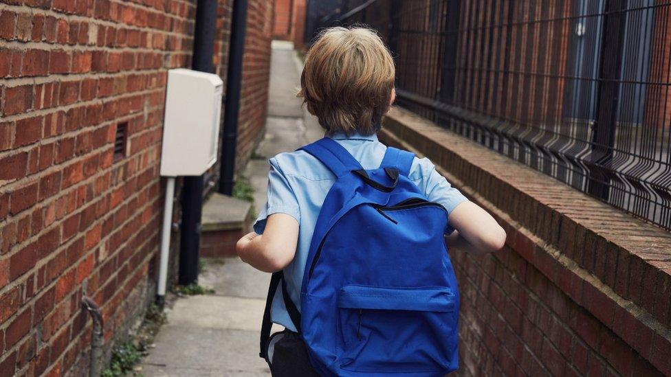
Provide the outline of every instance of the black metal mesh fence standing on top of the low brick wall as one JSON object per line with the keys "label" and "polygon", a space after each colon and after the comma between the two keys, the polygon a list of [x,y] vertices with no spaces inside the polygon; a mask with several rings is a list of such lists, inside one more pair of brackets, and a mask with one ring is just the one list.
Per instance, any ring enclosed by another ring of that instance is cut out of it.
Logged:
{"label": "black metal mesh fence standing on top of the low brick wall", "polygon": [[671,1],[351,0],[397,104],[671,229]]}

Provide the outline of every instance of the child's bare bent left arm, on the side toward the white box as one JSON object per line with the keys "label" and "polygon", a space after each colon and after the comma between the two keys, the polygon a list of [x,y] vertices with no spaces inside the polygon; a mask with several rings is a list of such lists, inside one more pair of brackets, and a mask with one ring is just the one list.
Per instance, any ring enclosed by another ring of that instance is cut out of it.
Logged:
{"label": "child's bare bent left arm, on the side toward the white box", "polygon": [[238,240],[235,251],[243,262],[264,272],[284,269],[294,259],[298,244],[298,221],[287,214],[268,216],[262,235],[248,233]]}

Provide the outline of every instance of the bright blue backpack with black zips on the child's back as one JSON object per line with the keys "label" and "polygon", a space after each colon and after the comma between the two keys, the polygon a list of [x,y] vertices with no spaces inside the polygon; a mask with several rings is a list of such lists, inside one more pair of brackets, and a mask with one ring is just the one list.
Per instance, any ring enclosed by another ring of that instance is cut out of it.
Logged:
{"label": "bright blue backpack with black zips on the child's back", "polygon": [[443,234],[448,216],[408,172],[415,155],[387,148],[364,170],[336,141],[301,148],[338,176],[320,211],[296,309],[274,273],[261,330],[281,284],[285,306],[322,376],[444,376],[459,366],[459,293]]}

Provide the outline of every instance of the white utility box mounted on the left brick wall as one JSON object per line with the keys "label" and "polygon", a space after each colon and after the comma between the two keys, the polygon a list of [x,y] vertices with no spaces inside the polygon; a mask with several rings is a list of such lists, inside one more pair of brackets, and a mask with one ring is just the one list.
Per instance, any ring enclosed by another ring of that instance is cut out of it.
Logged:
{"label": "white utility box mounted on the left brick wall", "polygon": [[213,73],[168,71],[162,176],[203,174],[217,161],[223,82]]}

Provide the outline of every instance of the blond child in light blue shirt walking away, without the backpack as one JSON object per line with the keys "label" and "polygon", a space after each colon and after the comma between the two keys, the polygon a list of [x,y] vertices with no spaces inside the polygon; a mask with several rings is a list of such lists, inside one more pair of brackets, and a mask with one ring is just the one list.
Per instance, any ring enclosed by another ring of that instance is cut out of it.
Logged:
{"label": "blond child in light blue shirt walking away, without the backpack", "polygon": [[[377,140],[382,117],[395,100],[395,67],[375,32],[333,27],[309,50],[298,93],[330,137],[362,165],[375,169],[386,146]],[[448,247],[483,254],[503,247],[505,232],[496,220],[450,186],[428,159],[412,161],[408,174],[429,201],[448,214]],[[241,238],[236,251],[256,269],[283,271],[289,298],[300,310],[300,289],[307,254],[322,203],[336,176],[304,150],[270,159],[267,204],[254,232]],[[278,294],[278,296],[281,296]],[[309,376],[305,345],[282,300],[274,300],[272,321],[285,326],[273,336],[268,362],[273,376]]]}

